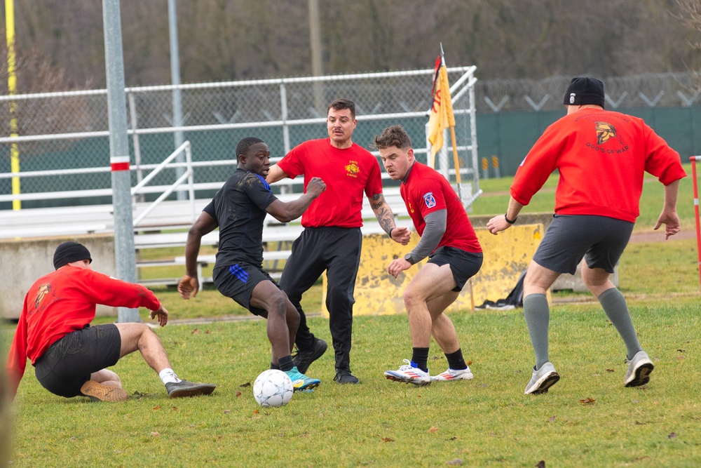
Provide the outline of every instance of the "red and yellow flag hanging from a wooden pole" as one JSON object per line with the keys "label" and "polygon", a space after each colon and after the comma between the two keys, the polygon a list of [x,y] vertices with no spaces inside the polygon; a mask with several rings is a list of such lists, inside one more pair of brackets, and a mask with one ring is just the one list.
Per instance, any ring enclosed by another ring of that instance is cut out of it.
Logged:
{"label": "red and yellow flag hanging from a wooden pole", "polygon": [[428,161],[431,167],[435,163],[435,155],[443,146],[443,131],[455,126],[453,103],[450,99],[448,71],[445,66],[443,51],[436,58],[435,74],[433,75],[433,106],[428,118],[428,141],[431,144],[431,155]]}

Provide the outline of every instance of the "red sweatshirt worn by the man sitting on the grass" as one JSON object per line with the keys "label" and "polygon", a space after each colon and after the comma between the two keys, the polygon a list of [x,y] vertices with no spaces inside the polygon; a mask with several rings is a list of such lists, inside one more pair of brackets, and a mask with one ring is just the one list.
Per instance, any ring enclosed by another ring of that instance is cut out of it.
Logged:
{"label": "red sweatshirt worn by the man sitting on the grass", "polygon": [[139,284],[67,265],[38,279],[25,304],[7,357],[9,395],[14,398],[27,358],[32,366],[46,349],[95,319],[97,304],[111,307],[161,307],[154,293]]}

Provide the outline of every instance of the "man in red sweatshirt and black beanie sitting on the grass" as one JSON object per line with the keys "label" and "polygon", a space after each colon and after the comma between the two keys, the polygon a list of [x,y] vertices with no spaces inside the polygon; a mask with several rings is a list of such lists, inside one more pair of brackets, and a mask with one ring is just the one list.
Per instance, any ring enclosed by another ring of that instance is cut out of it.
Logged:
{"label": "man in red sweatshirt and black beanie sitting on the grass", "polygon": [[128,394],[119,376],[107,367],[137,350],[161,377],[170,398],[214,392],[214,384],[175,375],[161,340],[146,323],[90,326],[97,304],[146,307],[161,326],[168,323],[168,311],[154,293],[93,272],[92,262],[85,246],[64,242],[53,255],[56,271],[27,291],[6,364],[10,397],[14,399],[29,359],[36,379],[53,394],[125,401]]}

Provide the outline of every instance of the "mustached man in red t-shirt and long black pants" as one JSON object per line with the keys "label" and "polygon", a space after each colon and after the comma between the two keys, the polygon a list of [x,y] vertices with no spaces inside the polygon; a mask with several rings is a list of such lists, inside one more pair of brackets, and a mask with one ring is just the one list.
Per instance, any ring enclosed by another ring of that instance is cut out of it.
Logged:
{"label": "mustached man in red t-shirt and long black pants", "polygon": [[304,174],[305,187],[314,177],[323,178],[326,183],[325,192],[302,215],[304,231],[292,244],[292,254],[280,277],[280,288],[299,311],[294,365],[305,373],[309,365],[324,354],[327,345],[309,330],[300,301],[302,294],[326,271],[326,307],[336,352],[334,380],[339,384],[356,384],[358,378],[351,373],[351,332],[353,289],[362,244],[363,193],[380,226],[394,241],[409,243],[409,230],[395,226],[392,208],[382,194],[377,159],[351,140],[358,123],[353,101],[332,102],[327,109],[326,123],[329,138],[309,140],[294,147],[271,166],[266,180],[272,184],[285,177],[294,179]]}

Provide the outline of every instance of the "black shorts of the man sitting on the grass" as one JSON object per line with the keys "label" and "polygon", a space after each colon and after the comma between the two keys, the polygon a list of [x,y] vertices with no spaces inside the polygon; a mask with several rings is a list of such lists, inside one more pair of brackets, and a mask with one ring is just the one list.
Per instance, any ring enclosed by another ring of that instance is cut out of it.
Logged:
{"label": "black shorts of the man sitting on the grass", "polygon": [[48,347],[34,363],[34,375],[53,394],[66,398],[79,396],[90,374],[117,363],[121,346],[122,339],[114,323],[86,326]]}

